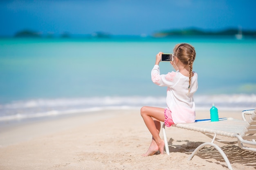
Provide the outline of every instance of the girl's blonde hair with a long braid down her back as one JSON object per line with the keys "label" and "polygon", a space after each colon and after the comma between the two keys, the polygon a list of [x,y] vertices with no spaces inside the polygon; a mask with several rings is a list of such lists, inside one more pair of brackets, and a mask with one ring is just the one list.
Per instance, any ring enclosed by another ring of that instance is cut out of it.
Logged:
{"label": "girl's blonde hair with a long braid down her back", "polygon": [[193,62],[195,60],[195,48],[190,44],[176,44],[173,49],[174,56],[177,57],[184,65],[189,65],[189,92],[191,85],[191,77],[193,70]]}

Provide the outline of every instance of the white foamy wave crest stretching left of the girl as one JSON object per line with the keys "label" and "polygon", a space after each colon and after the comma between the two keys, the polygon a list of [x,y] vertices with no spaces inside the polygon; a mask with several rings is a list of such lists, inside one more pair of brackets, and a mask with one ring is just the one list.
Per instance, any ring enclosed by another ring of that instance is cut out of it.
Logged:
{"label": "white foamy wave crest stretching left of the girl", "polygon": [[59,98],[59,99],[34,99],[27,101],[13,101],[0,105],[0,109],[18,108],[51,108],[70,106],[120,106],[141,104],[161,104],[165,103],[165,97],[88,97],[88,98]]}

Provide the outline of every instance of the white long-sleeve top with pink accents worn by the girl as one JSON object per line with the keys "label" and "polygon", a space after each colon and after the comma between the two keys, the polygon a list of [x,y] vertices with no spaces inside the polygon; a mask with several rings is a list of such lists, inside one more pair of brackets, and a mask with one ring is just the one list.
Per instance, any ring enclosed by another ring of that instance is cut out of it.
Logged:
{"label": "white long-sleeve top with pink accents worn by the girl", "polygon": [[167,86],[166,104],[172,112],[173,122],[191,123],[195,121],[194,93],[198,89],[198,75],[193,72],[189,93],[189,77],[179,71],[172,71],[160,75],[159,66],[155,65],[151,71],[151,79],[158,86]]}

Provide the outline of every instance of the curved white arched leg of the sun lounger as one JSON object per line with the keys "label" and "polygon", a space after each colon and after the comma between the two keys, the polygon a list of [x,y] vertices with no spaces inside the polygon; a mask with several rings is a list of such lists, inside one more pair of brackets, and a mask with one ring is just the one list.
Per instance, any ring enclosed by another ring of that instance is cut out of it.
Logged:
{"label": "curved white arched leg of the sun lounger", "polygon": [[227,155],[223,152],[223,150],[216,144],[213,144],[212,142],[206,142],[204,144],[201,144],[200,146],[198,146],[194,152],[190,155],[189,157],[189,161],[195,156],[195,154],[202,148],[204,148],[205,146],[207,145],[210,145],[210,146],[213,146],[215,149],[217,149],[220,154],[222,155],[222,157],[224,158],[225,162],[227,163],[227,167],[230,169],[230,170],[233,170],[233,168],[231,167],[231,164],[229,162],[229,159],[227,158]]}

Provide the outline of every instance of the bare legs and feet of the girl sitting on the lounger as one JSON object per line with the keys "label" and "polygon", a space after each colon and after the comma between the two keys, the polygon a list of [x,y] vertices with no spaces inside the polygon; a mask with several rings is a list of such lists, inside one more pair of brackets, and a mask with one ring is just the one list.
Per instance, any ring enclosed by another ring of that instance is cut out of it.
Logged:
{"label": "bare legs and feet of the girl sitting on the lounger", "polygon": [[158,150],[163,154],[164,140],[160,138],[159,131],[161,128],[160,121],[164,121],[164,108],[144,106],[141,108],[141,117],[152,135],[151,144],[142,156],[154,155]]}

